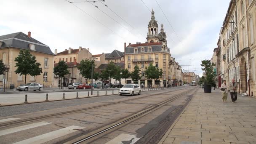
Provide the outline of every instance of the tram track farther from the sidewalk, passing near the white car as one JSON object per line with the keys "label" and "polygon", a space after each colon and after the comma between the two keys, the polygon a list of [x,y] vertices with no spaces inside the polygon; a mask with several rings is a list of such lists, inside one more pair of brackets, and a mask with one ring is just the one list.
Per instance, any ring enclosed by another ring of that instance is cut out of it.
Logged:
{"label": "tram track farther from the sidewalk, passing near the white car", "polygon": [[[179,91],[184,91],[184,89],[179,89],[179,90],[174,90],[174,91],[163,91],[162,93],[157,93],[157,94],[163,94],[163,93],[168,93],[168,92],[179,92]],[[50,114],[50,115],[43,115],[43,116],[32,117],[32,118],[27,118],[27,119],[23,119],[23,120],[16,120],[16,121],[7,122],[7,123],[1,123],[0,128],[5,128],[5,127],[8,127],[8,126],[18,125],[18,124],[22,124],[22,123],[29,123],[29,122],[32,122],[32,121],[42,120],[42,119],[61,116],[61,115],[72,114],[72,113],[76,113],[76,112],[80,112],[80,111],[84,111],[84,110],[89,110],[89,109],[107,107],[107,106],[110,106],[110,105],[120,104],[120,103],[127,102],[127,101],[134,101],[134,100],[138,100],[138,99],[144,99],[144,98],[147,98],[147,97],[150,97],[150,96],[155,96],[155,95],[156,95],[156,93],[150,94],[150,95],[147,95],[147,96],[141,96],[141,97],[134,98],[134,99],[126,99],[126,100],[123,100],[123,101],[117,101],[117,102],[113,102],[113,103],[110,103],[110,104],[109,103],[108,104],[101,104],[101,105],[93,106],[93,107],[86,107],[86,108],[82,108],[82,109],[75,109],[75,110],[66,111],[66,112],[59,112],[59,113]]]}

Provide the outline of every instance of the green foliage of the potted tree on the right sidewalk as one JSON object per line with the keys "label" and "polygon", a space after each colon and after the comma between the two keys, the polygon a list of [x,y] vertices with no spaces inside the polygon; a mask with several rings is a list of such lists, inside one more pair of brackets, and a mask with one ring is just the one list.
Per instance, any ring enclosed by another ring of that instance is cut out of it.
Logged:
{"label": "green foliage of the potted tree on the right sidewalk", "polygon": [[214,74],[213,66],[215,66],[215,64],[211,63],[211,60],[202,61],[201,67],[202,70],[205,72],[205,85],[214,85],[216,82],[216,75]]}

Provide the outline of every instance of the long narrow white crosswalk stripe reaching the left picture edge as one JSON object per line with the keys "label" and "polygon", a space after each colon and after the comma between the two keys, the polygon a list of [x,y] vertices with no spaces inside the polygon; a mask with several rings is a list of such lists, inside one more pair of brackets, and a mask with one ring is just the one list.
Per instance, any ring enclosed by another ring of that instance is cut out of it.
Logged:
{"label": "long narrow white crosswalk stripe reaching the left picture edge", "polygon": [[48,123],[48,122],[39,122],[39,123],[32,123],[32,124],[29,124],[29,125],[22,125],[22,126],[18,126],[18,127],[15,127],[15,128],[9,128],[9,129],[0,131],[0,136],[10,134],[10,133],[15,133],[15,132],[18,132],[18,131],[24,131],[24,130],[27,130],[27,129],[30,129],[30,128],[36,128],[38,126],[48,125],[48,124],[50,124],[50,123]]}

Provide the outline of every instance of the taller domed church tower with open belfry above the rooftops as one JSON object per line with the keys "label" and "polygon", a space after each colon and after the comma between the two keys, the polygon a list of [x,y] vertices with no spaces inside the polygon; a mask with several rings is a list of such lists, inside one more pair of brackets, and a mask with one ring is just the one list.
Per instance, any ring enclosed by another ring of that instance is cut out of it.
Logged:
{"label": "taller domed church tower with open belfry above the rooftops", "polygon": [[158,38],[158,24],[157,21],[155,20],[155,12],[153,9],[151,12],[151,20],[149,21],[148,24],[147,41],[149,43],[156,43],[160,41]]}

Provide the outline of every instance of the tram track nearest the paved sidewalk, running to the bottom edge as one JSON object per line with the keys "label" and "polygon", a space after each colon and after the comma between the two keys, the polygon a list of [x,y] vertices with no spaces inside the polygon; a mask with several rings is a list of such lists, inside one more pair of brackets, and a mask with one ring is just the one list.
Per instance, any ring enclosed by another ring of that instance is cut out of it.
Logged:
{"label": "tram track nearest the paved sidewalk, running to the bottom edge", "polygon": [[[194,94],[195,92],[197,91],[197,89],[195,91],[193,91],[192,93]],[[152,111],[155,111],[157,109],[159,109],[160,107],[163,107],[165,106],[166,104],[180,98],[181,96],[185,96],[186,94],[188,94],[189,92],[191,92],[191,89],[183,92],[183,93],[179,93],[179,94],[176,94],[175,96],[171,97],[170,99],[167,99],[165,101],[161,101],[160,103],[158,104],[154,104],[153,106],[151,107],[148,107],[146,109],[142,109],[141,111],[139,112],[136,112],[136,114],[133,114],[133,115],[130,115],[128,117],[125,117],[121,120],[118,120],[117,122],[115,123],[112,123],[110,125],[106,125],[102,128],[98,128],[96,131],[91,131],[83,136],[79,136],[77,138],[70,138],[70,139],[67,139],[65,141],[61,141],[61,143],[65,143],[65,144],[80,144],[80,143],[91,143],[92,141],[95,141],[96,139],[99,139],[100,137],[96,137],[100,134],[103,134],[107,131],[110,131],[114,128],[117,128],[118,126],[121,126],[123,124],[127,124],[127,122],[131,122],[131,121],[134,121],[144,115],[147,115],[148,113],[152,112]],[[114,130],[113,130],[114,131]],[[112,132],[112,131],[111,131]],[[111,133],[109,132],[109,133]],[[106,134],[104,134],[106,135]]]}

